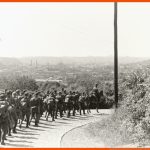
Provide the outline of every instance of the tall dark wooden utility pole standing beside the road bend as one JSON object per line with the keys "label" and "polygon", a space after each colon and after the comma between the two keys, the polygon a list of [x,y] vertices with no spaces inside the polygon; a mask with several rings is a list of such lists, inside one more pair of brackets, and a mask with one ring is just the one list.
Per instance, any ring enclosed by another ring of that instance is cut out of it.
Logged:
{"label": "tall dark wooden utility pole standing beside the road bend", "polygon": [[114,94],[115,107],[118,107],[118,30],[117,2],[114,2]]}

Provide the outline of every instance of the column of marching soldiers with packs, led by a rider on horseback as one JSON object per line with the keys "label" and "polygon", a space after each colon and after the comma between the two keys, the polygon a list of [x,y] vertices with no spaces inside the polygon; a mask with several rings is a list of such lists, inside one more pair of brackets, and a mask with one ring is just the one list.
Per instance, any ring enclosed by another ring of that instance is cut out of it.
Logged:
{"label": "column of marching soldiers with packs, led by a rider on horseback", "polygon": [[[100,95],[101,93],[101,95]],[[11,91],[5,90],[0,94],[0,142],[2,145],[7,140],[6,136],[11,136],[11,132],[17,133],[16,127],[22,127],[23,121],[26,121],[26,128],[34,119],[35,126],[38,126],[40,118],[45,115],[48,120],[49,115],[52,121],[57,117],[75,116],[90,113],[90,104],[95,102],[98,112],[98,105],[102,92],[98,91],[97,85],[87,94],[78,91],[29,92],[29,91]],[[44,113],[45,112],[45,113]]]}

